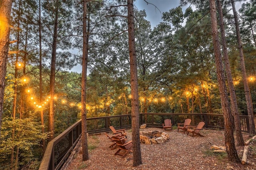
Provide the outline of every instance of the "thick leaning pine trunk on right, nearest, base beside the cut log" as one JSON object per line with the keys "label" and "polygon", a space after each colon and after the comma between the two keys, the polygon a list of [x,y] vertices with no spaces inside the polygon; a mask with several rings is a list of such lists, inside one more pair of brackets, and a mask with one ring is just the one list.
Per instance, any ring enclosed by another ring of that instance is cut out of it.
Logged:
{"label": "thick leaning pine trunk on right, nearest, base beside the cut log", "polygon": [[224,70],[223,70],[222,60],[221,60],[215,0],[210,0],[210,14],[211,14],[211,23],[212,23],[214,57],[215,57],[215,63],[216,63],[216,69],[217,69],[217,79],[218,79],[219,90],[220,90],[221,106],[222,106],[223,117],[224,117],[225,145],[227,149],[226,152],[228,154],[228,160],[238,163],[240,162],[240,159],[238,157],[235,142],[234,142],[232,116],[231,116],[230,106],[228,102],[228,92],[226,89],[226,84],[224,79]]}

